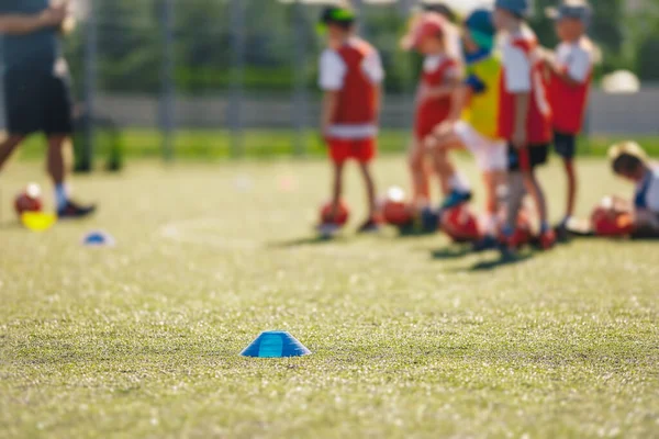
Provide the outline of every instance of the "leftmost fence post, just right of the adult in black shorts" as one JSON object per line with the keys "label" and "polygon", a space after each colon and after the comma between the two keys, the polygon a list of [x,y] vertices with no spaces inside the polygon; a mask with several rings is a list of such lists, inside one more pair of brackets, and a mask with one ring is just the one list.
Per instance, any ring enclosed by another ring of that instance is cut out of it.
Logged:
{"label": "leftmost fence post, just right of the adult in black shorts", "polygon": [[94,156],[94,120],[96,120],[96,91],[97,91],[97,63],[99,49],[97,0],[89,0],[88,16],[85,26],[85,79],[83,99],[85,114],[83,139],[78,170],[89,172],[93,168]]}

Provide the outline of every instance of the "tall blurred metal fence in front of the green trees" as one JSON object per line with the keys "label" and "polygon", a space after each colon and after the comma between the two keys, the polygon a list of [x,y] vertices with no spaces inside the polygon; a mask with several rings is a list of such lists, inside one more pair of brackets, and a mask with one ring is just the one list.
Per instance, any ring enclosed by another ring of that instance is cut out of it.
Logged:
{"label": "tall blurred metal fence in front of the green trees", "polygon": [[[411,126],[418,59],[399,49],[418,0],[353,0],[360,33],[381,52],[387,78],[382,125]],[[163,157],[186,145],[181,131],[230,138],[234,157],[245,138],[277,131],[291,154],[309,148],[319,120],[315,86],[323,48],[319,4],[297,0],[80,0],[80,23],[66,42],[76,98],[90,120],[158,134]],[[596,91],[594,134],[659,134],[659,88],[634,95]],[[86,131],[91,147],[94,125]],[[160,135],[161,134],[161,135]],[[175,146],[176,145],[176,146]],[[211,147],[211,146],[209,146]],[[401,146],[402,147],[402,146]]]}

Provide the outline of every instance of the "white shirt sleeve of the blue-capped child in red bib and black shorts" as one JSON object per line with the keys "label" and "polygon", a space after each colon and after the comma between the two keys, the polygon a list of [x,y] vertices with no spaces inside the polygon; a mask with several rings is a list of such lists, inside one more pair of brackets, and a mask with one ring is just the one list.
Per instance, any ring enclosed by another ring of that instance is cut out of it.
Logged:
{"label": "white shirt sleeve of the blue-capped child in red bib and black shorts", "polygon": [[524,29],[518,34],[506,35],[501,41],[501,54],[505,71],[505,88],[511,93],[527,93],[532,87],[532,60],[522,48],[514,45],[517,40],[528,40],[535,36]]}

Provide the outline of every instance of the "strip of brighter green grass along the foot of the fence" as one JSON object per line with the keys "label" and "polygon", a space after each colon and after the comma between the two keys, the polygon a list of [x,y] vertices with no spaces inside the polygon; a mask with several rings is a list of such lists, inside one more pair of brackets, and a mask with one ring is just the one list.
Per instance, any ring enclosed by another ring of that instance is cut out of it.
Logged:
{"label": "strip of brighter green grass along the foot of the fence", "polygon": [[[581,138],[581,156],[604,157],[608,147],[616,142],[628,139],[616,136],[594,136]],[[290,130],[250,130],[241,139],[243,156],[257,159],[281,158],[294,155],[298,136]],[[312,131],[302,134],[304,155],[320,157],[325,147],[320,136]],[[405,150],[410,135],[401,130],[386,130],[379,138],[380,151],[398,154]],[[639,137],[638,140],[652,156],[659,156],[659,136]],[[126,130],[121,133],[121,142],[127,158],[157,158],[163,156],[163,137],[154,130]],[[231,157],[234,139],[226,131],[182,130],[175,137],[175,157],[177,159],[222,160]],[[98,156],[108,156],[108,139],[101,135]],[[38,136],[29,139],[23,148],[25,158],[42,157],[44,144]]]}

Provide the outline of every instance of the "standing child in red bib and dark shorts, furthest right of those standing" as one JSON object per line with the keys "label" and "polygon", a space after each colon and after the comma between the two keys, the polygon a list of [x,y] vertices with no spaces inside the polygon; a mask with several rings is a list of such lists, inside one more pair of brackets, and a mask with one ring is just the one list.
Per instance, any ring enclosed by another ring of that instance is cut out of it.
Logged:
{"label": "standing child in red bib and dark shorts, furthest right of those standing", "polygon": [[[568,177],[566,215],[559,230],[566,230],[574,214],[577,199],[577,171],[574,155],[577,136],[581,132],[587,111],[588,95],[593,74],[593,43],[585,35],[591,8],[581,0],[567,0],[558,9],[548,10],[556,20],[560,44],[555,57],[546,59],[550,72],[549,101],[554,110],[554,145],[563,159]],[[554,58],[554,59],[551,59]]]}

